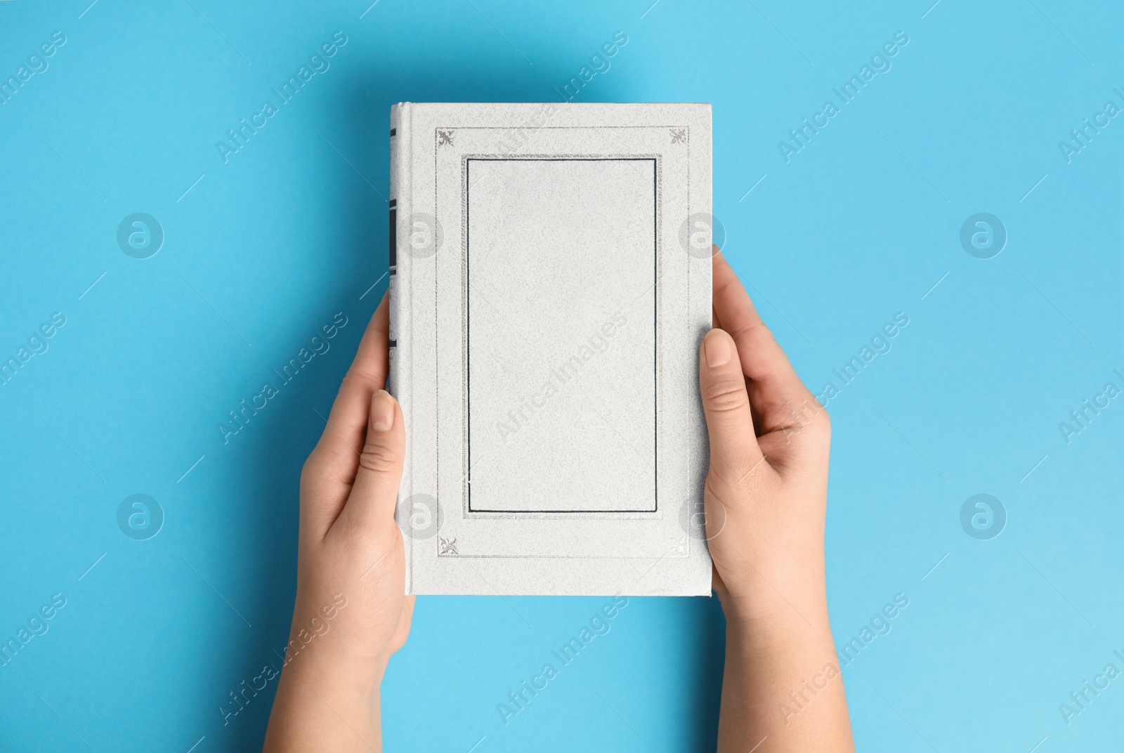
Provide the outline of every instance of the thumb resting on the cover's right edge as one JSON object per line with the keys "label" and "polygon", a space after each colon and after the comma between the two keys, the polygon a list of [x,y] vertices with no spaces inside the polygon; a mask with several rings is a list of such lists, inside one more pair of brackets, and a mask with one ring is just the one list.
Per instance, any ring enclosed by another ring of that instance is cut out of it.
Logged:
{"label": "thumb resting on the cover's right edge", "polygon": [[706,334],[699,348],[699,391],[710,438],[710,477],[728,488],[764,460],[741,364],[733,337],[722,329]]}

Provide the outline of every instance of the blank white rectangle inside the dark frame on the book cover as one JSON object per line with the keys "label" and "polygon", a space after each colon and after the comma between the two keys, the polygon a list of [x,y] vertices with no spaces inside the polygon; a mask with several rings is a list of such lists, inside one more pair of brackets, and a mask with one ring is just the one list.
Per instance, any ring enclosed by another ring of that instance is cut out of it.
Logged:
{"label": "blank white rectangle inside the dark frame on the book cover", "polygon": [[466,167],[470,511],[655,510],[655,158]]}

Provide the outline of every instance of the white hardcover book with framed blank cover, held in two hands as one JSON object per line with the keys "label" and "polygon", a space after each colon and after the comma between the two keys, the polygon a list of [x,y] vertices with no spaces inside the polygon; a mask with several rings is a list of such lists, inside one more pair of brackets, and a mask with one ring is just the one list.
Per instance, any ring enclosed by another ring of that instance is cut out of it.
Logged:
{"label": "white hardcover book with framed blank cover, held in two hands", "polygon": [[710,106],[390,114],[407,593],[701,596]]}

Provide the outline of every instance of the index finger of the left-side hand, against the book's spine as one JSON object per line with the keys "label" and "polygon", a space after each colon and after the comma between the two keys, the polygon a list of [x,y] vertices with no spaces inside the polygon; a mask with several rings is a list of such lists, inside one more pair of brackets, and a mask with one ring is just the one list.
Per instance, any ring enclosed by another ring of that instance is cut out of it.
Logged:
{"label": "index finger of the left-side hand, against the book's spine", "polygon": [[371,396],[387,383],[389,328],[384,293],[360,341],[355,360],[339,385],[324,434],[305,464],[306,478],[302,481],[312,486],[312,493],[302,496],[302,499],[307,497],[318,506],[317,515],[327,525],[339,515],[351,492],[366,433]]}

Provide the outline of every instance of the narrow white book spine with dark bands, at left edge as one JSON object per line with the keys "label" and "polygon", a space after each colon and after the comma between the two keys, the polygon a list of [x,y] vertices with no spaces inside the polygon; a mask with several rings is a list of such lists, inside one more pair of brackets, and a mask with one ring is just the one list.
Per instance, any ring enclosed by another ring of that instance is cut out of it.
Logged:
{"label": "narrow white book spine with dark bands, at left edge", "polygon": [[[410,379],[413,369],[410,368],[409,348],[409,254],[399,253],[399,218],[406,223],[410,216],[413,201],[410,200],[410,117],[409,102],[395,105],[390,108],[390,221],[389,221],[389,247],[388,247],[388,275],[387,289],[390,301],[390,327],[389,327],[389,376],[387,382],[388,391],[395,396],[402,407],[402,415],[410,415]],[[402,468],[402,481],[398,488],[398,502],[409,499],[411,492],[411,469],[410,469],[410,421],[406,420],[406,457]],[[396,503],[395,509],[398,509]],[[400,525],[406,524],[401,521]],[[408,525],[408,524],[406,524]],[[402,544],[406,554],[406,593],[413,592],[414,573],[411,568],[411,555],[414,539],[409,532],[402,529]]]}

